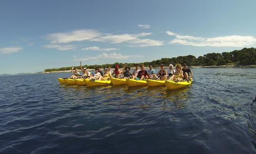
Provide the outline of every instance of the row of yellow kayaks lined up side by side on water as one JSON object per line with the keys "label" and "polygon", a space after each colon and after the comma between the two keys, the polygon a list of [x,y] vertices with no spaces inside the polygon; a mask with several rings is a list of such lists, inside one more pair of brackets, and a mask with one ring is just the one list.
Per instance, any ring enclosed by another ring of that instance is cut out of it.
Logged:
{"label": "row of yellow kayaks lined up side by side on water", "polygon": [[156,86],[166,86],[169,90],[180,89],[186,86],[189,86],[192,83],[191,80],[183,81],[183,82],[174,82],[174,81],[160,81],[160,80],[133,80],[133,79],[120,79],[120,78],[110,78],[107,81],[91,81],[89,79],[69,79],[69,78],[58,78],[60,83],[65,84],[78,84],[78,85],[86,85],[89,87],[93,86],[107,86],[107,85],[128,85],[129,87],[135,86],[149,86],[149,87],[156,87]]}

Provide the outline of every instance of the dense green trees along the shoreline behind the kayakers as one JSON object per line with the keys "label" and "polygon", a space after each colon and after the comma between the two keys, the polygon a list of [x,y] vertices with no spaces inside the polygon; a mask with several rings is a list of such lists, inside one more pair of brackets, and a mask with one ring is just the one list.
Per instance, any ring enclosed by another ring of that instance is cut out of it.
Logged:
{"label": "dense green trees along the shoreline behind the kayakers", "polygon": [[[115,65],[119,65],[122,68],[125,64],[130,67],[134,67],[135,65],[144,64],[146,67],[152,65],[153,67],[159,67],[160,64],[164,64],[168,66],[170,63],[186,63],[188,66],[210,66],[210,65],[224,65],[228,63],[236,63],[238,65],[254,65],[256,64],[256,48],[243,48],[242,50],[235,50],[232,52],[223,52],[219,53],[209,53],[204,54],[203,56],[199,56],[196,58],[193,55],[186,56],[178,56],[173,58],[162,58],[160,60],[154,60],[152,62],[144,62],[144,63],[113,63],[113,64],[103,64],[103,65],[83,65],[82,67],[86,67],[89,69],[94,68],[105,68],[111,67],[114,68]],[[80,66],[73,66],[74,68],[80,69]],[[45,72],[51,71],[65,71],[71,70],[72,67],[62,67],[62,68],[53,68],[46,69]]]}

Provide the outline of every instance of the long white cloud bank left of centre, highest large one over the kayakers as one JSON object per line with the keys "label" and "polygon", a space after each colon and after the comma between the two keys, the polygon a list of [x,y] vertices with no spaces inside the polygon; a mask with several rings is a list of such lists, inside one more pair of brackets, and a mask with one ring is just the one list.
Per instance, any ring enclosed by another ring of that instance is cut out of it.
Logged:
{"label": "long white cloud bank left of centre, highest large one over the kayakers", "polygon": [[[141,37],[150,36],[152,33],[138,33],[138,34],[107,34],[95,30],[74,30],[65,33],[54,33],[46,36],[52,44],[69,43],[74,41],[95,41],[95,42],[108,42],[111,44],[122,44],[129,46],[158,46],[164,45],[163,41],[154,39],[142,39]],[[149,41],[149,42],[146,42]]]}

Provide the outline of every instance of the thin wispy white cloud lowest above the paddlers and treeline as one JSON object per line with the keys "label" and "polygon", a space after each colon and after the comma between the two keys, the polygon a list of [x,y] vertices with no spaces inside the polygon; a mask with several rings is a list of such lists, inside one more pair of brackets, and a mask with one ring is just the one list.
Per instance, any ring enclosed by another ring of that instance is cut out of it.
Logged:
{"label": "thin wispy white cloud lowest above the paddlers and treeline", "polygon": [[95,60],[95,59],[128,59],[130,57],[143,57],[143,55],[122,55],[120,53],[102,53],[95,57],[87,56],[86,58],[74,59],[76,61],[87,61],[87,60]]}

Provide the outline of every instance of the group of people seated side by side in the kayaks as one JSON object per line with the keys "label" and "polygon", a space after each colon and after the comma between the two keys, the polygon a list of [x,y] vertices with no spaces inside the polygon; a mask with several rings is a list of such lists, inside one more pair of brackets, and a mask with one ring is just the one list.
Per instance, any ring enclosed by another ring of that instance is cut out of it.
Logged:
{"label": "group of people seated side by side in the kayaks", "polygon": [[138,65],[135,66],[135,70],[131,73],[130,67],[127,65],[124,66],[123,69],[119,69],[119,65],[115,66],[115,70],[112,71],[111,68],[104,68],[104,72],[101,71],[101,68],[95,68],[95,73],[92,74],[86,68],[82,68],[82,63],[80,62],[80,67],[82,70],[82,75],[78,72],[77,69],[72,67],[71,72],[73,75],[70,77],[71,79],[78,79],[78,78],[89,78],[90,80],[109,80],[111,77],[117,78],[124,78],[124,79],[134,79],[134,80],[144,80],[144,79],[153,79],[153,80],[173,80],[175,82],[179,81],[190,81],[193,73],[187,67],[187,64],[176,64],[174,69],[174,65],[170,64],[169,69],[165,70],[164,64],[160,65],[160,70],[155,73],[155,70],[152,66],[149,66],[149,70],[144,69],[144,65],[140,66],[138,69]]}

